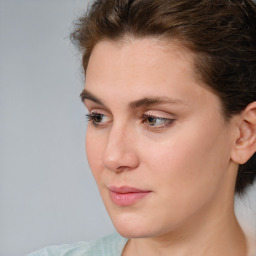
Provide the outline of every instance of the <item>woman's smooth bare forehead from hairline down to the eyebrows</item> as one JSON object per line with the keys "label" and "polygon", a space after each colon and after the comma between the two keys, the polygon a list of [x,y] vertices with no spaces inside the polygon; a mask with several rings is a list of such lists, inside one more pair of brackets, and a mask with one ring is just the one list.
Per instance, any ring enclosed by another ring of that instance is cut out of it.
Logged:
{"label": "woman's smooth bare forehead from hairline down to the eyebrows", "polygon": [[86,89],[106,101],[168,96],[191,105],[208,91],[196,78],[194,58],[172,40],[100,41],[89,60]]}

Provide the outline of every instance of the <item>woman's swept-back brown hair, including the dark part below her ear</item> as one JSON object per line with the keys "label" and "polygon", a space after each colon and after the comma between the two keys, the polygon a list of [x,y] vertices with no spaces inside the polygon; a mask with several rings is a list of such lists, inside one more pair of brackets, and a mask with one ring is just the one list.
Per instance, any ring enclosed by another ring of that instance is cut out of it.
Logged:
{"label": "woman's swept-back brown hair, including the dark part below her ear", "polygon": [[[100,40],[124,36],[179,40],[196,54],[195,73],[229,120],[256,100],[256,5],[252,0],[96,0],[75,23],[72,41],[86,72]],[[256,176],[256,155],[239,166],[236,192]]]}

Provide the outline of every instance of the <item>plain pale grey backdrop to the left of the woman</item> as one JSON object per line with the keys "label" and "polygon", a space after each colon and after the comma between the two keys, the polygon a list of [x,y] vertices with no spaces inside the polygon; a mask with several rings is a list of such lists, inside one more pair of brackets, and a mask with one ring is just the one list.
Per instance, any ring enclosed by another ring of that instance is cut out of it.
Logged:
{"label": "plain pale grey backdrop to the left of the woman", "polygon": [[0,256],[113,232],[85,156],[85,0],[0,0]]}

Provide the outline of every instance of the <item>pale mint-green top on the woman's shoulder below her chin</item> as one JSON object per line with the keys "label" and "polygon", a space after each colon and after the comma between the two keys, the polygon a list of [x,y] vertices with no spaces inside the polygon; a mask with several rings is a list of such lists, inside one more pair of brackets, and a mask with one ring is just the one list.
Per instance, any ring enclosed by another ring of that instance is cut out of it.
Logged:
{"label": "pale mint-green top on the woman's shoulder below her chin", "polygon": [[27,256],[121,256],[126,242],[114,234],[90,242],[49,246]]}

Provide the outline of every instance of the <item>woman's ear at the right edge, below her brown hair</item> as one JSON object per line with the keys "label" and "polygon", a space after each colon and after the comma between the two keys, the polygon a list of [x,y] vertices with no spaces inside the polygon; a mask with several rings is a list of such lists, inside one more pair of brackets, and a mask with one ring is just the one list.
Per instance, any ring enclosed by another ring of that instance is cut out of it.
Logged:
{"label": "woman's ear at the right edge, below her brown hair", "polygon": [[238,115],[238,119],[231,159],[235,163],[244,164],[256,152],[256,102],[250,103]]}

